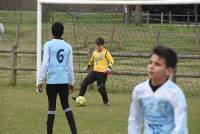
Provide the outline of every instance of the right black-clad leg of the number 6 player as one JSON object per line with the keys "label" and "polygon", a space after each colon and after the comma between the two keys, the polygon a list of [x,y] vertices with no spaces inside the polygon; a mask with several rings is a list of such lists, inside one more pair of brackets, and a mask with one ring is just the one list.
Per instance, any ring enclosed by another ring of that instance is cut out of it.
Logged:
{"label": "right black-clad leg of the number 6 player", "polygon": [[60,90],[59,90],[60,102],[61,102],[63,111],[65,112],[72,134],[77,134],[74,115],[68,103],[68,95],[69,95],[68,84],[61,84]]}

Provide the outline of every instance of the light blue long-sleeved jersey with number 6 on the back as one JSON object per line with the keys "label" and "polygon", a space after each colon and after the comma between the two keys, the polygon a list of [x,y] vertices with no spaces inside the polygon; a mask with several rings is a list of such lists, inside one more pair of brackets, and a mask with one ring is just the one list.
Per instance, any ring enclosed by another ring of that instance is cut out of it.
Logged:
{"label": "light blue long-sleeved jersey with number 6 on the back", "polygon": [[39,84],[46,75],[47,84],[74,84],[72,48],[64,40],[53,39],[45,43]]}

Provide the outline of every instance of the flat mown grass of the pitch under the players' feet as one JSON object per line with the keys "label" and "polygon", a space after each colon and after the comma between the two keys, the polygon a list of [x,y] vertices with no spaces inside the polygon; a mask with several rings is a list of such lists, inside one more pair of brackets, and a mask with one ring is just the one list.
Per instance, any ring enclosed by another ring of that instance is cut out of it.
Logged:
{"label": "flat mown grass of the pitch under the players' feet", "polygon": [[[109,107],[102,104],[95,90],[86,93],[87,105],[79,107],[72,102],[79,134],[126,134],[129,114],[130,94],[109,93]],[[1,134],[44,134],[46,131],[47,97],[35,92],[33,83],[11,87],[2,84],[0,90],[0,133]],[[187,98],[188,124],[191,134],[199,133],[199,98]],[[57,99],[55,134],[70,133],[60,101]]]}

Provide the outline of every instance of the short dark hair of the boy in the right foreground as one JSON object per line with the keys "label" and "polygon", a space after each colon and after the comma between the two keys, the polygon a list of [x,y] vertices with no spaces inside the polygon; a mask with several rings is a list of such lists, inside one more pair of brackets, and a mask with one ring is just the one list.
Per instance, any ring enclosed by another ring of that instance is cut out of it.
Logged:
{"label": "short dark hair of the boy in the right foreground", "polygon": [[171,48],[163,46],[163,45],[157,45],[153,48],[152,54],[156,54],[159,57],[164,58],[167,67],[176,68],[176,65],[178,62],[177,54]]}

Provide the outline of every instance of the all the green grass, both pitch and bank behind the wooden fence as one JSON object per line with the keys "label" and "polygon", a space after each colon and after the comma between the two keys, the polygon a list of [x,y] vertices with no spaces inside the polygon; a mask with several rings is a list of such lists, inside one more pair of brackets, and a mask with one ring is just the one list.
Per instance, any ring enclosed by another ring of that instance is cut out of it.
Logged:
{"label": "all the green grass, both pitch and bank behind the wooden fence", "polygon": [[[87,51],[94,47],[97,36],[106,39],[106,47],[110,51],[123,52],[150,52],[156,44],[157,31],[160,31],[160,43],[174,48],[179,54],[199,55],[200,47],[196,42],[196,29],[194,27],[177,27],[176,25],[123,25],[119,21],[120,15],[108,15],[106,22],[102,18],[106,14],[95,16],[92,14],[81,16],[75,14],[74,27],[72,14],[59,13],[55,15],[55,21],[65,23],[64,39],[69,41],[74,50]],[[20,20],[18,12],[1,13],[2,22],[5,23],[0,48],[10,49],[15,44],[15,28],[20,25],[19,49],[36,49],[36,13],[24,12]],[[10,18],[14,18],[11,20]],[[99,19],[100,17],[100,19]],[[116,17],[117,21],[109,20]],[[31,19],[31,20],[30,20]],[[88,21],[88,19],[91,19]],[[80,23],[81,22],[81,23]],[[43,23],[43,43],[50,39],[50,23]],[[110,44],[114,27],[113,42]],[[76,36],[76,38],[75,38]],[[35,55],[17,55],[17,66],[35,67]],[[10,66],[10,54],[0,54],[0,65]],[[114,71],[145,72],[148,59],[146,58],[115,58]],[[81,69],[87,65],[87,57],[74,56],[74,66]],[[200,74],[199,59],[179,60],[178,73]],[[17,86],[9,85],[9,71],[0,70],[0,134],[44,134],[46,132],[47,97],[45,92],[41,95],[35,92],[35,72],[17,71]],[[75,74],[75,86],[79,89],[80,83],[86,74]],[[94,89],[86,94],[87,106],[78,107],[71,100],[78,126],[79,134],[126,134],[127,119],[130,105],[132,87],[144,76],[118,76],[108,78],[107,89],[111,100],[110,107],[102,105],[101,98]],[[199,134],[200,128],[200,79],[178,77],[177,84],[184,90],[188,103],[188,126],[190,134]],[[69,133],[64,113],[61,110],[59,99],[57,100],[57,113],[55,120],[55,134]]]}

